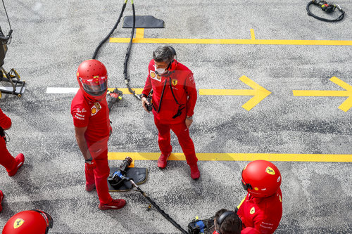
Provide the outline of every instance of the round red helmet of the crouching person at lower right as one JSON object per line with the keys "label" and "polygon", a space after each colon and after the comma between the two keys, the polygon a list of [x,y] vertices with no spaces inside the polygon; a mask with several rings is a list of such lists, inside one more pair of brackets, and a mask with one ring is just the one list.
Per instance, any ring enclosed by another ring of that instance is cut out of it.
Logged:
{"label": "round red helmet of the crouching person at lower right", "polygon": [[242,170],[242,186],[254,197],[274,195],[281,185],[279,169],[271,162],[256,160]]}

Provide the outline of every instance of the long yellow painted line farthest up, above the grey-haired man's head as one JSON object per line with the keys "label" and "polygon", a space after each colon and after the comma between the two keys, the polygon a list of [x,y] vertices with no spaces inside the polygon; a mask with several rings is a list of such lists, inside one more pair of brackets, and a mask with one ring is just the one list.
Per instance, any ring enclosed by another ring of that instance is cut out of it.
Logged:
{"label": "long yellow painted line farthest up, above the grey-haired man's head", "polygon": [[[113,43],[129,43],[130,38],[110,38]],[[265,39],[167,39],[134,38],[133,43],[155,44],[253,44],[253,45],[301,45],[301,46],[352,46],[352,41],[334,40],[265,40]]]}

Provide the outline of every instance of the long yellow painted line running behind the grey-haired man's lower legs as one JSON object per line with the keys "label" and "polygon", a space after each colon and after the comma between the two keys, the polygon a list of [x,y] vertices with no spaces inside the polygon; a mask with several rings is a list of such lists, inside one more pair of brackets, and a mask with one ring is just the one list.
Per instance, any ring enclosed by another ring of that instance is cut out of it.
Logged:
{"label": "long yellow painted line running behind the grey-haired man's lower legs", "polygon": [[[158,160],[160,152],[108,152],[108,160]],[[271,162],[352,162],[352,155],[328,154],[270,154],[270,153],[197,153],[199,161],[253,161]],[[168,160],[185,161],[183,153],[171,153]]]}

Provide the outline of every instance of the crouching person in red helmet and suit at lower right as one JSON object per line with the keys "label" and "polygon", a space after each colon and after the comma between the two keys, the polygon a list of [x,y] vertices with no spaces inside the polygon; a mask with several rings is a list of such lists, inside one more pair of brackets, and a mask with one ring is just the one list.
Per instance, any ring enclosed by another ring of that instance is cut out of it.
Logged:
{"label": "crouching person in red helmet and suit at lower right", "polygon": [[282,217],[281,174],[271,162],[256,160],[242,170],[242,186],[248,193],[239,204],[237,214],[243,223],[241,233],[254,228],[258,233],[272,234]]}

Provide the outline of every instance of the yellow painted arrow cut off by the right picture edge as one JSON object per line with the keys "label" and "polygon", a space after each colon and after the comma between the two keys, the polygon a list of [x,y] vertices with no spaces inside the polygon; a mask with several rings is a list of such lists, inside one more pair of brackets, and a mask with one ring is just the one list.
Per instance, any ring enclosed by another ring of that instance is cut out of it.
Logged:
{"label": "yellow painted arrow cut off by the right picture edge", "polygon": [[346,112],[347,110],[352,108],[352,86],[347,84],[346,82],[341,81],[341,79],[337,77],[332,77],[329,80],[346,90],[293,90],[294,96],[348,97],[344,101],[344,103],[339,105],[339,109]]}

